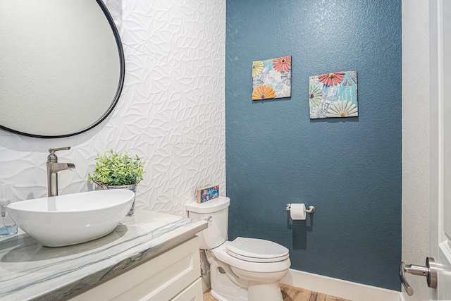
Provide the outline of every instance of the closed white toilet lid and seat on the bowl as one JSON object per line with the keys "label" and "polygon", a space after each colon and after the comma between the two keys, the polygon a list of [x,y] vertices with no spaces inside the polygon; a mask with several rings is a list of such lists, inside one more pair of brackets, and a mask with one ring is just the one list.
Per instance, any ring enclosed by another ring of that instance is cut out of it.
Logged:
{"label": "closed white toilet lid and seat on the bowl", "polygon": [[280,262],[289,256],[283,245],[257,238],[236,238],[228,243],[227,253],[249,262]]}

